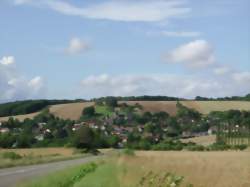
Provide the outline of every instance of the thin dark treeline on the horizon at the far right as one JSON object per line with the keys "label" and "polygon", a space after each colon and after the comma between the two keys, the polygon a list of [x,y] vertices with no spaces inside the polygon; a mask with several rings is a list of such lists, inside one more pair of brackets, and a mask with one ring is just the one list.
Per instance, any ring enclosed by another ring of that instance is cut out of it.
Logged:
{"label": "thin dark treeline on the horizon at the far right", "polygon": [[232,96],[232,97],[218,97],[218,98],[208,98],[197,96],[196,101],[250,101],[250,94],[245,96]]}

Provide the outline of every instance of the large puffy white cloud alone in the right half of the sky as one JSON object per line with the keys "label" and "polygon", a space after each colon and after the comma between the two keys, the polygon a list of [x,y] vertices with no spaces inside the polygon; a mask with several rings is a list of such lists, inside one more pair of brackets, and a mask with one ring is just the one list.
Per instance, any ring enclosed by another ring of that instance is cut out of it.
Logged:
{"label": "large puffy white cloud alone in the right half of the sky", "polygon": [[215,64],[214,50],[205,40],[195,40],[170,51],[165,60],[169,63],[184,63],[190,68],[204,68]]}

